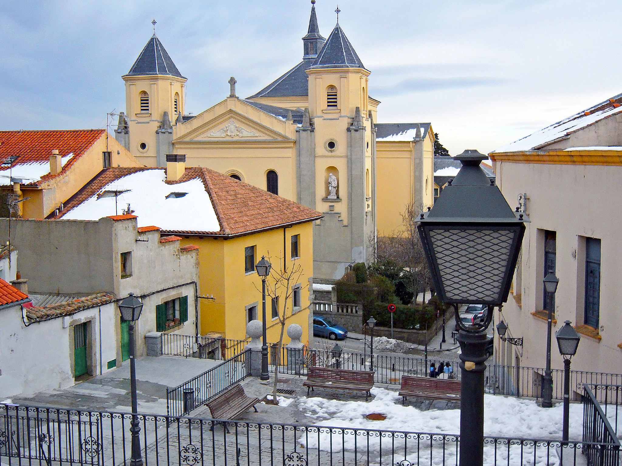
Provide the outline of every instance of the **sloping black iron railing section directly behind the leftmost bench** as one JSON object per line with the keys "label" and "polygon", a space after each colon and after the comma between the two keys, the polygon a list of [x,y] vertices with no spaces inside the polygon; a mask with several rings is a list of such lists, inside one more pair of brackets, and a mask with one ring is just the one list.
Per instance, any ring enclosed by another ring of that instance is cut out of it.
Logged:
{"label": "sloping black iron railing section directly behind the leftmost bench", "polygon": [[166,389],[166,410],[169,416],[183,416],[251,375],[249,351],[225,360],[216,367]]}

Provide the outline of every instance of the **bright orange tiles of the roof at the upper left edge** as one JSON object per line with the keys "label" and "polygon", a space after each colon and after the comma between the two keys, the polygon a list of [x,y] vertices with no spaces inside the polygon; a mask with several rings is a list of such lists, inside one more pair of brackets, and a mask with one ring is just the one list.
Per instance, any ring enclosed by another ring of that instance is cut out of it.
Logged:
{"label": "bright orange tiles of the roof at the upper left edge", "polygon": [[[0,162],[14,156],[17,160],[12,167],[22,163],[49,163],[52,150],[58,150],[63,157],[73,153],[60,172],[65,173],[105,133],[105,129],[0,131]],[[1,170],[9,170],[9,167]],[[58,175],[44,175],[32,184],[40,185],[55,176]]]}

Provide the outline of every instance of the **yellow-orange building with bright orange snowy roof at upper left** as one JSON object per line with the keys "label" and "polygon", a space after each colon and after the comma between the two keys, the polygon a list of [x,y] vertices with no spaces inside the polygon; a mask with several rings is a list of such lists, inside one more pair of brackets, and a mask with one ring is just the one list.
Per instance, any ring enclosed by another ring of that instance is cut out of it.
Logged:
{"label": "yellow-orange building with bright orange snowy roof at upper left", "polygon": [[[43,219],[101,170],[143,165],[104,129],[0,131],[0,186],[14,214]],[[23,200],[26,199],[26,200]]]}

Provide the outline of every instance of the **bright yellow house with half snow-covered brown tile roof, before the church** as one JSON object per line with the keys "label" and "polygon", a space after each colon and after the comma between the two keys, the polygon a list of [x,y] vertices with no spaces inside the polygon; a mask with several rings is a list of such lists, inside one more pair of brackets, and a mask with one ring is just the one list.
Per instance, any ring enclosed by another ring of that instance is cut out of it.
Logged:
{"label": "bright yellow house with half snow-covered brown tile roof, before the church", "polygon": [[[183,246],[200,248],[200,290],[214,298],[200,300],[201,334],[244,339],[246,324],[261,320],[261,278],[254,265],[265,255],[275,271],[302,268],[292,283],[295,299],[287,304],[286,316],[291,316],[287,325],[302,326],[303,342],[308,342],[312,224],[322,218],[320,212],[208,168],[186,169],[183,157],[177,156],[165,170],[107,170],[65,205],[58,218],[106,216],[115,202],[103,195],[107,192],[121,193],[118,203],[138,217],[139,231],[160,229]],[[273,276],[268,282],[274,283]],[[283,303],[284,297],[281,313]],[[267,320],[268,339],[277,342],[281,327],[270,300]]]}

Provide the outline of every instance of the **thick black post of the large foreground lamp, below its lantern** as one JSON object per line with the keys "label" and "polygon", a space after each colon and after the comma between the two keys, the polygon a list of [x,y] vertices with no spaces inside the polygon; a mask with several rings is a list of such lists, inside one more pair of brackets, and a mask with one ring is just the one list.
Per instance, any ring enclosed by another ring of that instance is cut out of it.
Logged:
{"label": "thick black post of the large foreground lamp, below its lantern", "polygon": [[460,466],[484,461],[484,370],[486,331],[458,333],[460,354]]}

